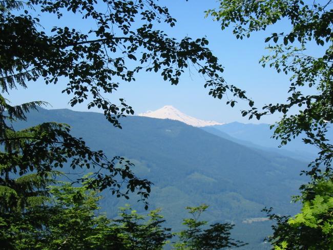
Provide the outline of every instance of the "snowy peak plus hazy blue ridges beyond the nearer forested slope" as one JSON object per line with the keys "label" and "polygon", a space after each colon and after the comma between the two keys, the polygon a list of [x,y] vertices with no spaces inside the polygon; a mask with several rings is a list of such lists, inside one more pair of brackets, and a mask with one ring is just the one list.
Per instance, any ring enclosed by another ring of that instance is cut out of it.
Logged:
{"label": "snowy peak plus hazy blue ridges beyond the nearer forested slope", "polygon": [[[270,124],[204,121],[188,116],[173,106],[164,106],[156,111],[141,113],[139,116],[178,120],[194,127],[200,127],[206,132],[237,142],[249,148],[274,152],[307,162],[314,160],[318,152],[315,147],[305,145],[301,136],[289,142],[287,145],[284,145],[282,148],[279,148],[280,141],[271,138],[274,131],[270,130]],[[333,133],[331,133],[329,137],[333,139]]]}

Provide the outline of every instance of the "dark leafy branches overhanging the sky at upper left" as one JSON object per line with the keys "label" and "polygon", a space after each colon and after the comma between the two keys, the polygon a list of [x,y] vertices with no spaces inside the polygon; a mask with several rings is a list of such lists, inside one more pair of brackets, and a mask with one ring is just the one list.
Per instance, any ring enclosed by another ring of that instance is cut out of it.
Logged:
{"label": "dark leafy branches overhanging the sky at upper left", "polygon": [[[114,92],[119,81],[134,81],[142,70],[160,72],[164,80],[177,85],[184,69],[194,65],[205,76],[204,86],[214,97],[222,98],[230,91],[248,100],[244,91],[226,84],[221,76],[223,68],[206,47],[206,38],[184,37],[178,41],[156,28],[162,22],[171,27],[176,23],[168,8],[160,7],[157,1],[29,1],[17,7],[23,8],[23,13],[11,11],[13,3],[16,1],[2,1],[0,51],[4,56],[0,64],[4,91],[17,85],[28,87],[27,81],[38,77],[46,84],[66,77],[68,84],[63,92],[71,95],[71,106],[91,97],[88,109],[101,108],[118,127],[117,118],[134,111],[124,99],[115,103],[103,93]],[[64,13],[80,15],[82,22],[96,25],[87,33],[56,26],[41,30],[35,9],[59,19]],[[228,103],[235,105],[232,100]]]}

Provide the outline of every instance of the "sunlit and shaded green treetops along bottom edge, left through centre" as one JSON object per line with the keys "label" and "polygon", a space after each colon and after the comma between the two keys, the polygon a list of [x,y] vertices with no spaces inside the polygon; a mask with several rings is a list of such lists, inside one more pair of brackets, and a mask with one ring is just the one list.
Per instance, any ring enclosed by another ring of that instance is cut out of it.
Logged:
{"label": "sunlit and shaded green treetops along bottom edge, left through centre", "polygon": [[[119,211],[118,219],[98,212],[97,192],[85,184],[73,187],[59,183],[49,187],[45,204],[30,203],[23,211],[2,214],[0,243],[4,249],[162,249],[175,235],[162,227],[160,210],[138,215],[130,206]],[[185,219],[188,230],[181,231],[174,249],[221,249],[241,246],[230,238],[231,224],[199,221],[207,205],[188,207],[194,215]],[[218,236],[218,237],[217,237]]]}

